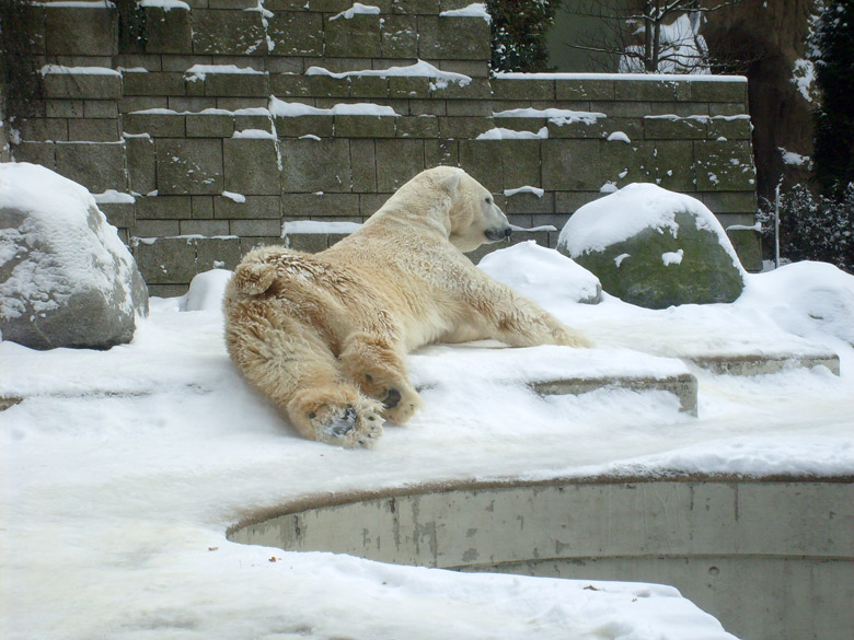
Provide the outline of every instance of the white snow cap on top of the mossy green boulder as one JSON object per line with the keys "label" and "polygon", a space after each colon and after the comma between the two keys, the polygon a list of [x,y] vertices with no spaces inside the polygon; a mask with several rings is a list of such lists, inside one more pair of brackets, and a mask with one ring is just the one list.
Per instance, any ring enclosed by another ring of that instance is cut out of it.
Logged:
{"label": "white snow cap on top of the mossy green boulder", "polygon": [[605,183],[600,191],[609,191],[610,195],[580,207],[557,238],[557,244],[565,246],[569,255],[575,257],[590,251],[602,251],[644,229],[657,229],[677,237],[679,225],[674,216],[677,211],[688,211],[696,218],[697,229],[717,234],[718,242],[734,264],[741,268],[726,231],[700,200],[646,183],[634,183],[619,190],[613,183]]}

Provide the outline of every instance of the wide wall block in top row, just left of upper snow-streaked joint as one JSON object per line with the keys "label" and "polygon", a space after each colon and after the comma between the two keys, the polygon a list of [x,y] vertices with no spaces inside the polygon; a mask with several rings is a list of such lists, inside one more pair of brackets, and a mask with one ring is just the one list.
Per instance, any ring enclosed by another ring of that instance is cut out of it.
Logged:
{"label": "wide wall block in top row, just left of upper snow-streaked joint", "polygon": [[194,9],[191,18],[194,54],[267,54],[267,38],[257,11]]}

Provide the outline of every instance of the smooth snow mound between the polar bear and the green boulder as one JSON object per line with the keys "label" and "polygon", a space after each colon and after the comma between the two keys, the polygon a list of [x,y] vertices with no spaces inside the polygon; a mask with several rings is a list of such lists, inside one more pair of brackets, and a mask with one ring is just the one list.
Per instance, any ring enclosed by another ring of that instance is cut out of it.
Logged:
{"label": "smooth snow mound between the polar bear and the green boulder", "polygon": [[487,254],[477,267],[541,305],[555,299],[597,304],[602,296],[596,276],[532,240]]}

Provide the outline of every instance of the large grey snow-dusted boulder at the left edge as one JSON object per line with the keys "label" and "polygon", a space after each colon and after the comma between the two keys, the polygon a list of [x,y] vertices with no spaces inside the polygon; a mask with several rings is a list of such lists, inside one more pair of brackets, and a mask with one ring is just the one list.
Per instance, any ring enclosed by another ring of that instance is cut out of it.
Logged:
{"label": "large grey snow-dusted boulder at the left edge", "polygon": [[43,166],[0,164],[2,339],[107,349],[147,314],[142,276],[92,195]]}

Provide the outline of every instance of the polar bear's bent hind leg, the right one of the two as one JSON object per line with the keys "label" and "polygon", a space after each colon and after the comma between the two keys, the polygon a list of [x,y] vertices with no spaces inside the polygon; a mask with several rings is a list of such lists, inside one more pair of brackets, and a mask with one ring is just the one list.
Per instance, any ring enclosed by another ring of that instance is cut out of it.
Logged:
{"label": "polar bear's bent hind leg, the right one of the two", "polygon": [[406,375],[405,350],[386,336],[350,334],[338,359],[344,374],[367,396],[380,400],[383,416],[402,424],[422,407],[418,392]]}

